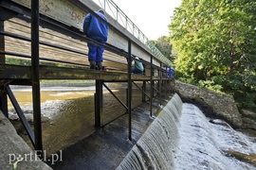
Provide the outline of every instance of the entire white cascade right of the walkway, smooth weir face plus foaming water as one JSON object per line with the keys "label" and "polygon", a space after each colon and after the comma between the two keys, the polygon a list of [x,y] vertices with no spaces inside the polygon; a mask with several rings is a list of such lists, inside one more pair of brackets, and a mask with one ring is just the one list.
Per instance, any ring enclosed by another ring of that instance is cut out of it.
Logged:
{"label": "entire white cascade right of the walkway, smooth weir face plus foaming water", "polygon": [[255,170],[229,153],[255,156],[256,138],[222,120],[211,122],[175,94],[117,169]]}

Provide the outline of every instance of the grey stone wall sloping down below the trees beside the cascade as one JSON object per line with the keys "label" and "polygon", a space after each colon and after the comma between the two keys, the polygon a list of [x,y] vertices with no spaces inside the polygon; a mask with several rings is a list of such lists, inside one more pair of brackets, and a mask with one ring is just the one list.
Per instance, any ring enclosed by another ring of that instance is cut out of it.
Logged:
{"label": "grey stone wall sloping down below the trees beside the cascade", "polygon": [[175,81],[175,92],[183,102],[192,103],[212,118],[222,118],[232,127],[244,127],[241,113],[231,95],[200,89],[191,84]]}

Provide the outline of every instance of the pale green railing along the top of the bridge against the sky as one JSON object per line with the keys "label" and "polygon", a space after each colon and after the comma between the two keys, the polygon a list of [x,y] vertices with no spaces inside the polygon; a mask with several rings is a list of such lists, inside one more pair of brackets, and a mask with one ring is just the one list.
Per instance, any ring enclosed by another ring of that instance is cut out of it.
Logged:
{"label": "pale green railing along the top of the bridge against the sky", "polygon": [[112,1],[112,0],[93,0],[98,6],[103,8],[112,18],[114,18],[121,26],[126,28],[133,34],[137,40],[144,43],[163,63],[171,66],[172,62],[167,59],[150,40],[140,31],[140,29],[132,22],[132,20]]}

